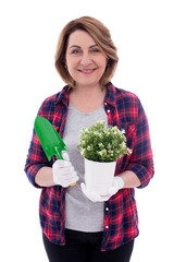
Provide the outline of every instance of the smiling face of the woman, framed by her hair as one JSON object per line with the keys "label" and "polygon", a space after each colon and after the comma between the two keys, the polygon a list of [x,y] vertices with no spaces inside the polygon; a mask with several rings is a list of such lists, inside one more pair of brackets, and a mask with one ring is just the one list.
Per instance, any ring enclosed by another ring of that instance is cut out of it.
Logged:
{"label": "smiling face of the woman, framed by her hair", "polygon": [[99,85],[107,58],[88,33],[78,29],[69,36],[65,59],[76,86]]}

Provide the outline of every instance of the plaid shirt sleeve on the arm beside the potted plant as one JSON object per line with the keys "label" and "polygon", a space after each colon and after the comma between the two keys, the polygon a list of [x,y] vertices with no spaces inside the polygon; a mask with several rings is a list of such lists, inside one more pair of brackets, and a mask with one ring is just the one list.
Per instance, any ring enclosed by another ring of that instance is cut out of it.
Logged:
{"label": "plaid shirt sleeve on the arm beside the potted plant", "polygon": [[135,145],[126,169],[139,178],[141,184],[138,188],[148,186],[154,174],[148,119],[139,100]]}

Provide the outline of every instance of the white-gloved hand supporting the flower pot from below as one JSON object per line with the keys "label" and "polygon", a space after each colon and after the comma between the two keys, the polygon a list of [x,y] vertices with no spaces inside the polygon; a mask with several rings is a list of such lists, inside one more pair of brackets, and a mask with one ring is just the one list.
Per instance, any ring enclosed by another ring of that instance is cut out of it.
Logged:
{"label": "white-gloved hand supporting the flower pot from below", "polygon": [[124,181],[121,177],[114,177],[112,187],[108,190],[108,194],[99,195],[96,192],[89,191],[85,183],[80,183],[80,188],[84,194],[92,202],[103,202],[108,201],[113,194],[117,193],[120,189],[124,187]]}

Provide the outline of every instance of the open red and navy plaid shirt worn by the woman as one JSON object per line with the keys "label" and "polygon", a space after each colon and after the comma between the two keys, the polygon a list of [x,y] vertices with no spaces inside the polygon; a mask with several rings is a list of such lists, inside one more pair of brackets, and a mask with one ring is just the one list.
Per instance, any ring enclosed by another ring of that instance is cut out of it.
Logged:
{"label": "open red and navy plaid shirt worn by the woman", "polygon": [[[129,92],[108,84],[104,109],[108,123],[125,130],[127,146],[133,151],[117,160],[115,176],[132,170],[146,187],[153,176],[152,151],[149,127],[138,97]],[[69,112],[69,86],[47,98],[38,115],[47,118],[63,138]],[[35,176],[49,163],[34,130],[25,171],[37,188]],[[138,236],[138,216],[134,189],[122,189],[104,203],[104,225],[101,251],[115,249]],[[57,245],[65,245],[65,189],[61,186],[42,188],[39,203],[40,224],[48,239]]]}

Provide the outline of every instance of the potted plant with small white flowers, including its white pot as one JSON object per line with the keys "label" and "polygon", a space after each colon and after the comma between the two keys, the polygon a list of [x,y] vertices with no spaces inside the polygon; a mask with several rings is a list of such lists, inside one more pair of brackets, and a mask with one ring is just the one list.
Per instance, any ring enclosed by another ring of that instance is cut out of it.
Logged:
{"label": "potted plant with small white flowers, including its white pot", "polygon": [[84,193],[108,194],[113,183],[116,160],[132,153],[126,146],[124,133],[117,127],[105,128],[104,121],[82,129],[78,150],[85,158],[85,190],[82,187]]}

